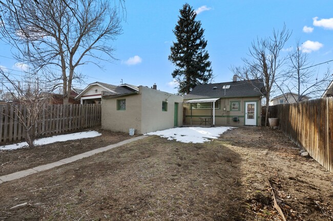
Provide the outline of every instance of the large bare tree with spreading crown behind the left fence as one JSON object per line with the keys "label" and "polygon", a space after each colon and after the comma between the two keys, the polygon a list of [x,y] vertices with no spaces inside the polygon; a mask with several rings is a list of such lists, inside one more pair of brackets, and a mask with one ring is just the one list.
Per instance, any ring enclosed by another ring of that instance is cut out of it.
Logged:
{"label": "large bare tree with spreading crown behind the left fence", "polygon": [[53,73],[49,80],[61,82],[64,104],[73,80],[82,79],[78,66],[102,67],[101,60],[115,59],[111,42],[121,34],[121,20],[110,1],[7,0],[0,6],[0,34],[19,50],[16,59],[29,63],[34,72]]}

